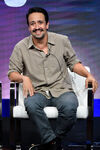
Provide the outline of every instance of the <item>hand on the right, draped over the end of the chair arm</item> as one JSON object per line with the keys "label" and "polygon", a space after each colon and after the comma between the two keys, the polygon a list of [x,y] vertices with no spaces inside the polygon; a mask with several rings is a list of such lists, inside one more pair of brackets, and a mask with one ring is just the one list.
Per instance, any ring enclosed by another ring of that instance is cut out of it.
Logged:
{"label": "hand on the right, draped over the end of the chair arm", "polygon": [[97,88],[98,88],[98,83],[97,83],[96,79],[91,74],[89,74],[88,77],[86,78],[86,81],[85,81],[86,88],[88,88],[89,82],[92,83],[93,93],[95,93]]}

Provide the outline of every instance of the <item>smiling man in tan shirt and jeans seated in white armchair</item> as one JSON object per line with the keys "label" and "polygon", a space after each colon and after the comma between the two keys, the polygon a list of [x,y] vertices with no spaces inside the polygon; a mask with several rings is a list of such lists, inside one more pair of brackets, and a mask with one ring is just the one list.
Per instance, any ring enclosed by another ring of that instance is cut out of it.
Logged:
{"label": "smiling man in tan shirt and jeans seated in white armchair", "polygon": [[[30,120],[36,124],[41,144],[30,149],[61,150],[58,141],[76,122],[78,106],[67,67],[92,82],[93,92],[97,81],[76,57],[67,36],[48,32],[49,17],[43,8],[30,8],[26,15],[31,33],[16,44],[10,57],[8,76],[11,81],[23,83],[25,107]],[[55,132],[43,111],[48,105],[59,112]]]}

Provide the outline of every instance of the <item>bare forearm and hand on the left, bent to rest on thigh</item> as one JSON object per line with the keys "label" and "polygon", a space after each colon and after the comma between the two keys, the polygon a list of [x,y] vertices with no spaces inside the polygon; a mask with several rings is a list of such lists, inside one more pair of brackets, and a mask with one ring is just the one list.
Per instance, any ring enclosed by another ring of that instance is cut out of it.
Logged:
{"label": "bare forearm and hand on the left, bent to rest on thigh", "polygon": [[11,72],[8,77],[12,82],[23,83],[23,95],[25,97],[27,97],[28,94],[30,96],[34,95],[34,87],[29,77],[21,75],[18,72]]}

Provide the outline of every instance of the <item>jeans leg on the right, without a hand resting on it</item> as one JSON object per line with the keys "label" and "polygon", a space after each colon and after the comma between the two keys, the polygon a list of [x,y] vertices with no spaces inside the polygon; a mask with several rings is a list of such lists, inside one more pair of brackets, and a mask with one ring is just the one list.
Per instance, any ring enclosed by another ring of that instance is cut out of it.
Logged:
{"label": "jeans leg on the right, without a hand resting on it", "polygon": [[59,112],[55,134],[63,138],[76,122],[78,100],[74,92],[66,92],[58,98],[53,98],[52,103]]}

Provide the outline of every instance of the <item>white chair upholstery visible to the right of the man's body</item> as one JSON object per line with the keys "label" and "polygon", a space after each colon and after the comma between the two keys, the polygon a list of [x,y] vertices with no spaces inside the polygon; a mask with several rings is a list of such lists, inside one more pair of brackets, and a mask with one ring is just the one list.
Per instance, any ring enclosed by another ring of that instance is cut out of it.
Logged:
{"label": "white chair upholstery visible to the right of the man's body", "polygon": [[[85,66],[85,68],[90,72],[90,68]],[[69,70],[72,87],[78,98],[79,106],[77,108],[77,118],[87,118],[88,117],[88,89],[85,88],[86,78],[80,76]]]}

